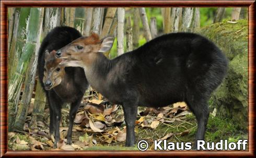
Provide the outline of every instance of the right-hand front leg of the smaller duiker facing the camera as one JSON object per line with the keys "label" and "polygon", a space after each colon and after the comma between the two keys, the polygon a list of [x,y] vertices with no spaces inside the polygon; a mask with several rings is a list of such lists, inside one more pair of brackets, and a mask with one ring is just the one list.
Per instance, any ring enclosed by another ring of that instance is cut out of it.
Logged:
{"label": "right-hand front leg of the smaller duiker facing the camera", "polygon": [[76,112],[79,108],[81,100],[82,100],[82,98],[71,104],[71,108],[70,108],[70,111],[69,111],[69,125],[68,125],[68,131],[67,131],[67,144],[72,144],[73,122],[74,122]]}

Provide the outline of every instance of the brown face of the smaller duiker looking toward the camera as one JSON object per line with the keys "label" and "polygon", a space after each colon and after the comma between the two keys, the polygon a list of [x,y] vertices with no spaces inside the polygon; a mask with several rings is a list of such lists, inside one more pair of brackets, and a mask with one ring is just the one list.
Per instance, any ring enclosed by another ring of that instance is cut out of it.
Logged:
{"label": "brown face of the smaller duiker looking toward the camera", "polygon": [[50,90],[61,83],[65,70],[63,66],[59,65],[62,59],[56,58],[56,51],[54,50],[50,53],[48,50],[45,51],[44,62],[44,88]]}

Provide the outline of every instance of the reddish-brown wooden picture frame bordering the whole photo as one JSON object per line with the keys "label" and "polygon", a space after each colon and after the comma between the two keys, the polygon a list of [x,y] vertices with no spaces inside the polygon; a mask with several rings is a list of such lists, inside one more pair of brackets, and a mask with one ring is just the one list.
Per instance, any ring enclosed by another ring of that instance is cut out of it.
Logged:
{"label": "reddish-brown wooden picture frame bordering the whole photo", "polygon": [[[247,151],[10,151],[7,148],[7,7],[248,7],[249,150]],[[1,157],[2,156],[255,156],[254,154],[255,1],[1,1]]]}

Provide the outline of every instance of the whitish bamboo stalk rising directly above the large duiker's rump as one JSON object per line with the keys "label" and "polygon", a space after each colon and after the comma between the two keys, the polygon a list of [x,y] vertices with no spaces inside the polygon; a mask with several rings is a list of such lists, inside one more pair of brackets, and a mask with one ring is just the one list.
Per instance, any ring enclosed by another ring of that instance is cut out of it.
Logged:
{"label": "whitish bamboo stalk rising directly above the large duiker's rump", "polygon": [[184,14],[182,16],[181,31],[190,31],[190,26],[193,18],[193,8],[185,8]]}

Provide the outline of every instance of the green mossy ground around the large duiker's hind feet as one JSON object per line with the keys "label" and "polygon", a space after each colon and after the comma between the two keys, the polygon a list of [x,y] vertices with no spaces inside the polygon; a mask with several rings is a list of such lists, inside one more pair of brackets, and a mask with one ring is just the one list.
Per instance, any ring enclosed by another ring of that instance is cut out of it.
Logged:
{"label": "green mossy ground around the large duiker's hind feet", "polygon": [[[194,115],[187,115],[185,122],[174,122],[172,124],[160,124],[156,129],[143,128],[136,133],[136,142],[146,140],[149,147],[152,147],[153,141],[164,137],[167,133],[173,133],[173,136],[167,139],[168,142],[192,142],[197,129],[196,119]],[[180,135],[185,130],[189,130],[187,135]],[[239,139],[248,139],[248,132],[242,131],[231,120],[221,117],[213,117],[210,115],[205,133],[205,141],[219,142],[220,139],[228,140],[228,142],[237,142]],[[114,145],[114,146],[113,146]],[[125,143],[109,144],[103,146],[99,144],[95,147],[89,147],[85,150],[138,150],[137,147],[124,147]],[[247,147],[248,148],[248,147]]]}

